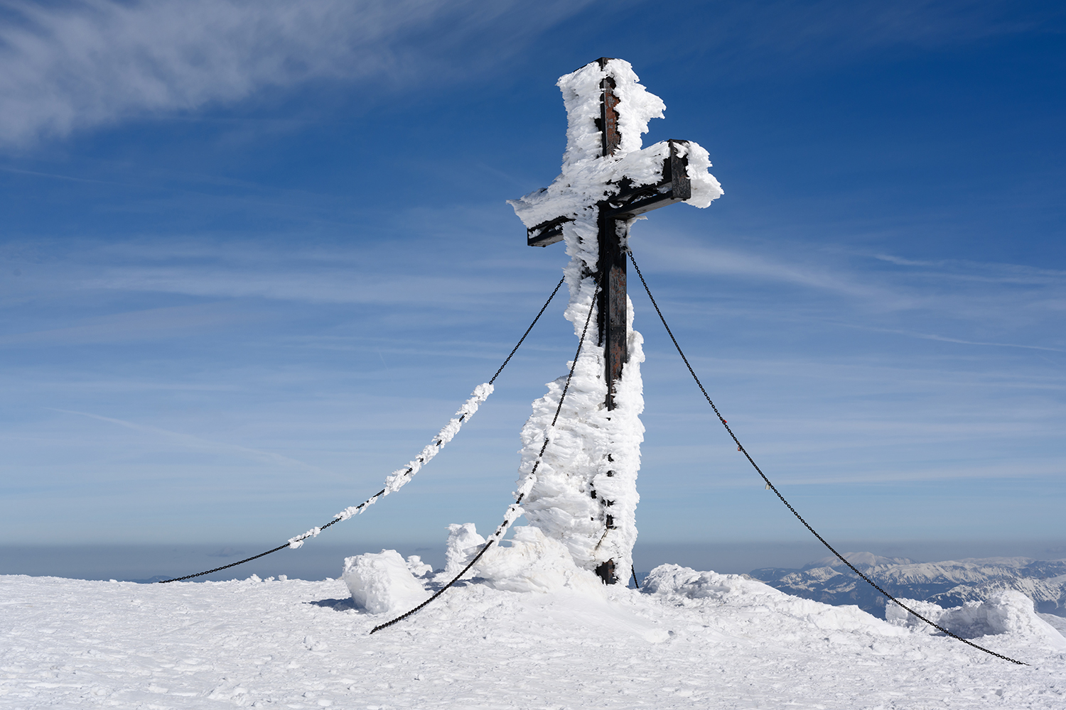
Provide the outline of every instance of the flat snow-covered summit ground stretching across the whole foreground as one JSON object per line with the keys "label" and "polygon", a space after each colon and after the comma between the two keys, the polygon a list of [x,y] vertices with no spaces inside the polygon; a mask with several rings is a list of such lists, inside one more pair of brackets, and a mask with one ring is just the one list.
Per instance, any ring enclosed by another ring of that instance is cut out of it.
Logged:
{"label": "flat snow-covered summit ground stretching across the whole foreground", "polygon": [[340,580],[3,576],[0,605],[0,708],[1066,707],[1066,639],[1025,609],[975,639],[1022,667],[674,565],[647,592],[461,583],[373,635],[391,616]]}

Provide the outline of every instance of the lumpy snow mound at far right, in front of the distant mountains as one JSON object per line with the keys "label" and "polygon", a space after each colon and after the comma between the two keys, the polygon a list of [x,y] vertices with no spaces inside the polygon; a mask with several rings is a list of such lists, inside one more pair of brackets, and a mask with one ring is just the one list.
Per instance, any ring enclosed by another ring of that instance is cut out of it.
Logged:
{"label": "lumpy snow mound at far right, in front of the distant mountains", "polygon": [[[1032,599],[1015,590],[1004,590],[984,601],[967,601],[962,607],[951,609],[943,609],[931,601],[901,601],[964,639],[1007,633],[1041,640],[1054,648],[1066,649],[1066,638],[1036,614]],[[930,633],[935,631],[894,604],[885,607],[885,618],[897,626],[924,628]]]}

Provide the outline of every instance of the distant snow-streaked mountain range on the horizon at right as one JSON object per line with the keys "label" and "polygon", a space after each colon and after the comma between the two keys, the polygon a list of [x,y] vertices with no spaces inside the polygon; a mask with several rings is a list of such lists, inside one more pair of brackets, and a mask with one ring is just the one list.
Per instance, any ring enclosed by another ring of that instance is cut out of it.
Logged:
{"label": "distant snow-streaked mountain range on the horizon at right", "polygon": [[[1034,601],[1036,611],[1066,616],[1066,560],[991,557],[915,562],[872,552],[846,552],[844,557],[897,597],[932,601],[947,609],[987,599],[1002,590],[1017,590]],[[875,616],[885,615],[885,597],[835,557],[800,569],[762,567],[749,575],[795,596],[838,606],[854,604]]]}

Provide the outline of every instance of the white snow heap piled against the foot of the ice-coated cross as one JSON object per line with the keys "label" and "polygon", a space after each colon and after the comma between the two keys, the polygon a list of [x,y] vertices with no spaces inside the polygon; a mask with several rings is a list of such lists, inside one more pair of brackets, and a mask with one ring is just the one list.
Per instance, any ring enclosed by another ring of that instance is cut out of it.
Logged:
{"label": "white snow heap piled against the foot of the ice-coated cross", "polygon": [[481,558],[474,566],[480,581],[506,592],[571,590],[605,598],[599,577],[575,564],[566,545],[539,528],[515,528],[510,542],[510,547],[492,547]]}

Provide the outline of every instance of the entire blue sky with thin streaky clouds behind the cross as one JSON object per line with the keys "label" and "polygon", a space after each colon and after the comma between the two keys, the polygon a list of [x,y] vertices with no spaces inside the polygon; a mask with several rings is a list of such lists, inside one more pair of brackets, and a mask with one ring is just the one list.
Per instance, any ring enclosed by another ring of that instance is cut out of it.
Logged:
{"label": "entire blue sky with thin streaky clouds behind the cross", "polygon": [[[1066,16],[1018,2],[0,3],[0,534],[265,548],[379,488],[561,275],[504,202],[633,64],[726,194],[632,246],[826,536],[1066,541]],[[631,288],[649,543],[805,541]],[[416,482],[498,523],[561,299]],[[979,552],[980,550],[974,550]],[[998,550],[999,551],[999,550]]]}

